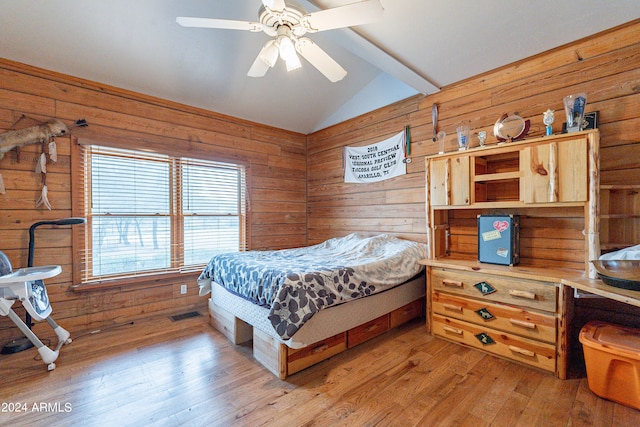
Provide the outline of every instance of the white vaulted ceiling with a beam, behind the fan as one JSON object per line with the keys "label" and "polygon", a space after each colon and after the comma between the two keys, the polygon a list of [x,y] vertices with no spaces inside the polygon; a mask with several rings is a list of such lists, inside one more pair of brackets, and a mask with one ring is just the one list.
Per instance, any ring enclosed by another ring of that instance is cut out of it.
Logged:
{"label": "white vaulted ceiling with a beam, behind the fan", "polygon": [[337,83],[304,60],[247,77],[266,34],[175,22],[257,21],[260,0],[0,0],[0,57],[310,133],[640,18],[639,0],[380,2],[379,22],[309,35],[347,70]]}

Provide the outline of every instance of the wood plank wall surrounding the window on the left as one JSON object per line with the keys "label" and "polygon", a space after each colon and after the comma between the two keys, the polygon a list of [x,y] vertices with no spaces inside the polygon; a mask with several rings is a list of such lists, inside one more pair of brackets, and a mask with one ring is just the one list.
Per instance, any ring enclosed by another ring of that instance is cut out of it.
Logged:
{"label": "wood plank wall surrounding the window on the left", "polygon": [[[85,118],[87,128],[73,137],[130,147],[171,147],[185,156],[238,160],[249,165],[249,248],[279,249],[306,244],[306,136],[222,114],[179,105],[62,74],[0,59],[0,132],[20,129],[53,117],[67,125]],[[0,250],[14,268],[27,265],[32,223],[71,216],[70,137],[57,138],[58,162],[47,167],[53,209],[35,208],[40,176],[34,173],[40,146],[7,153],[0,160],[6,194],[0,195]],[[91,292],[71,291],[71,231],[38,228],[35,265],[60,264],[63,273],[47,280],[54,318],[70,331],[100,328],[151,314],[201,309],[195,276],[170,283]],[[187,295],[180,285],[188,284]],[[16,312],[22,317],[20,304]],[[51,330],[37,324],[35,329]],[[0,317],[0,345],[19,331]],[[46,336],[46,335],[45,335]]]}

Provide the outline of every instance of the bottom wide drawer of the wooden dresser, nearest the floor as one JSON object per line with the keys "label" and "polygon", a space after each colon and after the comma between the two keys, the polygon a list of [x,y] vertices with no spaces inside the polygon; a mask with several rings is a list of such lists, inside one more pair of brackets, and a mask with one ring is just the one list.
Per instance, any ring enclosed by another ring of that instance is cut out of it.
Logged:
{"label": "bottom wide drawer of the wooden dresser, nearest the floor", "polygon": [[[545,371],[555,372],[556,370],[556,348],[551,344],[483,328],[438,314],[433,315],[433,333]],[[480,338],[486,343],[481,342]]]}

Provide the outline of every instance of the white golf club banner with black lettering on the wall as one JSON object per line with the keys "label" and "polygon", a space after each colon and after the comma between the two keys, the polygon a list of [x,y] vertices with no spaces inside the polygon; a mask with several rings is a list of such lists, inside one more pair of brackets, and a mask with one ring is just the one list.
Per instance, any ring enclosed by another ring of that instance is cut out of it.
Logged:
{"label": "white golf club banner with black lettering on the wall", "polygon": [[344,148],[344,182],[378,182],[405,175],[405,131],[377,144]]}

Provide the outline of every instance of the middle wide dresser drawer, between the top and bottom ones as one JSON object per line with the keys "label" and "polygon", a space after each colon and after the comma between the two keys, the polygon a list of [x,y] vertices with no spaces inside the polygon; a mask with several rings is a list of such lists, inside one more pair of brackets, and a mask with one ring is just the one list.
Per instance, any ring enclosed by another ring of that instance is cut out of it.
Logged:
{"label": "middle wide dresser drawer, between the top and bottom ones", "polygon": [[556,318],[500,303],[434,292],[433,312],[527,338],[556,342]]}

